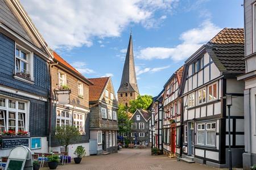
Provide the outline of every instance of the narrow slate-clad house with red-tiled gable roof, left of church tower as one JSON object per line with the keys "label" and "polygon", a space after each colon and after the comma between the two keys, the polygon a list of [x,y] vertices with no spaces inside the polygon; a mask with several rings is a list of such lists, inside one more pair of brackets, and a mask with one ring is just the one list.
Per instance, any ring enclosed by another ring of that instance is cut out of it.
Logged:
{"label": "narrow slate-clad house with red-tiled gable roof, left of church tower", "polygon": [[118,101],[111,77],[89,80],[90,154],[117,152]]}

